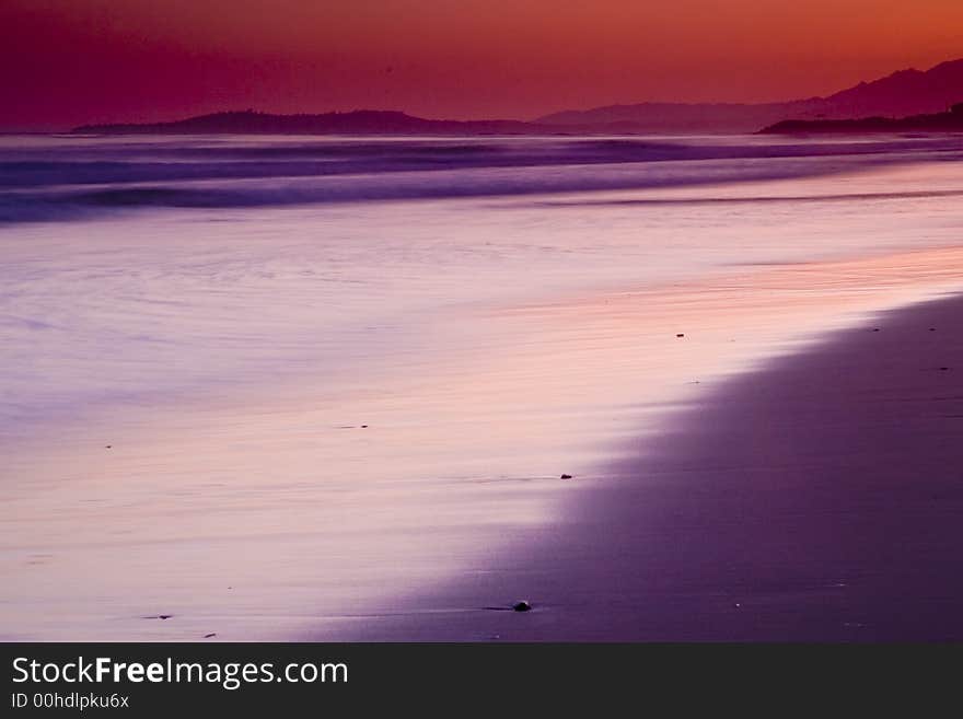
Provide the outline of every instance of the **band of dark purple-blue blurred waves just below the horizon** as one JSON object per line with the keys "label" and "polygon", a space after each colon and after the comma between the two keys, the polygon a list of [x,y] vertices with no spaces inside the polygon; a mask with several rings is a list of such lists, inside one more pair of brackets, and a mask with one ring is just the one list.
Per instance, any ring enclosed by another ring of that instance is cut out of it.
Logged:
{"label": "band of dark purple-blue blurred waves just below the horizon", "polygon": [[0,222],[732,183],[940,155],[963,155],[963,138],[4,138]]}

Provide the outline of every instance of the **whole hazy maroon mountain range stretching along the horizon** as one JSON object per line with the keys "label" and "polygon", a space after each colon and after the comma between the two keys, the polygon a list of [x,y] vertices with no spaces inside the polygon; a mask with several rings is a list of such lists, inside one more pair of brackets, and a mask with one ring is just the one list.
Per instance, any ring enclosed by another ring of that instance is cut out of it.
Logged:
{"label": "whole hazy maroon mountain range stretching along the horizon", "polygon": [[97,134],[330,134],[330,135],[567,135],[646,132],[755,132],[784,120],[850,120],[939,114],[963,101],[963,59],[926,71],[909,69],[826,97],[780,103],[640,103],[565,111],[532,121],[443,120],[394,111],[320,115],[254,111],[216,113],[149,125],[88,125]]}

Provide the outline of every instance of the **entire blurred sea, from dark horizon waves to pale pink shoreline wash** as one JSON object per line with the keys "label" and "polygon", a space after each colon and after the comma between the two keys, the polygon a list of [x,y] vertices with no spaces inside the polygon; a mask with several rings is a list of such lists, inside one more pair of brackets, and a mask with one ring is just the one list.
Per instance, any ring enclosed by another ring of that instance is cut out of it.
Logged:
{"label": "entire blurred sea, from dark horizon waves to pale pink shoreline wash", "polygon": [[959,290],[961,159],[2,137],[0,636],[341,638],[550,546],[727,378]]}

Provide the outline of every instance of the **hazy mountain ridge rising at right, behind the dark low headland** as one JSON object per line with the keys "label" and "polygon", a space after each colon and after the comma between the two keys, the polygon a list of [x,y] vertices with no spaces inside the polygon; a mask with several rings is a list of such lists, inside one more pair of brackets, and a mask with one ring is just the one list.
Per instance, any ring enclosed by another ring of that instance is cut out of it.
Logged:
{"label": "hazy mountain ridge rising at right, behind the dark low headland", "polygon": [[963,59],[926,72],[901,70],[827,97],[764,104],[641,103],[567,111],[539,117],[542,125],[631,125],[636,131],[752,132],[785,119],[856,119],[941,113],[963,100]]}

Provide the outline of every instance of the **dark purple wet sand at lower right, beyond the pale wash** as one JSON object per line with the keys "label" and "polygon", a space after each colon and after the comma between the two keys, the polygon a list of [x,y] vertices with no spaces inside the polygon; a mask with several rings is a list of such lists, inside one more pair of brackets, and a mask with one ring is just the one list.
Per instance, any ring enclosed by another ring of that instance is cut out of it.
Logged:
{"label": "dark purple wet sand at lower right, beyond the pale wash", "polygon": [[961,317],[884,312],[724,382],[567,480],[557,522],[348,638],[963,639]]}

